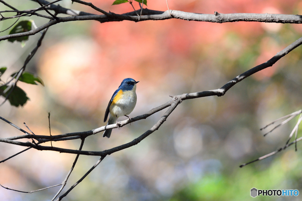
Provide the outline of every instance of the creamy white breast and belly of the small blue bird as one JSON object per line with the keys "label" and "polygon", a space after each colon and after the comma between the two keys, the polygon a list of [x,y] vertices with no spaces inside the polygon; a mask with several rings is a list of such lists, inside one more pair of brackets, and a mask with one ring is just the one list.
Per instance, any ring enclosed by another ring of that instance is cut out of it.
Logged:
{"label": "creamy white breast and belly of the small blue bird", "polygon": [[136,101],[137,96],[135,91],[124,91],[122,98],[116,101],[114,105],[110,106],[110,114],[112,116],[117,116],[117,118],[120,116],[128,115],[133,111],[136,105]]}

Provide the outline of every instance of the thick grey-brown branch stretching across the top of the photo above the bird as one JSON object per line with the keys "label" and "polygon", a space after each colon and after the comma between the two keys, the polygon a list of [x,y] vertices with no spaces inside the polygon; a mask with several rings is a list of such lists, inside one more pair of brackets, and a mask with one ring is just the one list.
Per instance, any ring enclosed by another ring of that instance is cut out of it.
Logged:
{"label": "thick grey-brown branch stretching across the top of the photo above the bird", "polygon": [[[41,1],[42,2],[42,1]],[[149,9],[143,9],[142,16],[128,15],[128,14],[115,14],[108,13],[108,15],[84,15],[84,16],[70,16],[70,17],[58,17],[58,20],[52,20],[46,24],[43,24],[36,29],[18,33],[10,34],[0,37],[0,41],[7,40],[10,38],[22,37],[22,36],[31,36],[41,30],[46,29],[54,24],[59,22],[68,22],[68,21],[79,21],[79,20],[98,20],[101,23],[110,22],[110,21],[147,21],[147,20],[166,20],[171,18],[182,19],[187,21],[204,21],[204,22],[215,22],[215,23],[225,23],[225,22],[235,22],[235,21],[255,21],[255,22],[275,22],[275,23],[294,23],[301,24],[302,16],[301,15],[287,15],[287,14],[255,14],[255,13],[235,13],[235,14],[198,14],[198,13],[188,13],[183,11],[172,10],[171,15],[169,11],[152,11]]]}

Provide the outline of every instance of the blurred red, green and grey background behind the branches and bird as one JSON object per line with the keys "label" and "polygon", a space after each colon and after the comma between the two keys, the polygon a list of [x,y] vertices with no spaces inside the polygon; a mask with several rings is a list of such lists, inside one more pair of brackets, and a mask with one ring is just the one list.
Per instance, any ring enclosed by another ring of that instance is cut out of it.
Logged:
{"label": "blurred red, green and grey background behind the branches and bird", "polygon": [[[105,11],[132,11],[129,4],[91,0]],[[196,13],[300,14],[298,0],[168,1],[169,8]],[[39,7],[31,1],[11,3],[20,10]],[[91,13],[91,8],[59,3]],[[134,2],[135,8],[139,8]],[[1,10],[7,10],[0,5]],[[167,10],[165,0],[149,0],[153,10]],[[41,12],[42,13],[42,12]],[[60,16],[65,16],[61,14]],[[47,22],[31,16],[37,26]],[[12,21],[0,24],[1,30]],[[8,31],[2,35],[8,34]],[[302,35],[300,24],[258,22],[207,23],[170,19],[164,21],[76,21],[50,27],[27,71],[43,79],[45,87],[18,82],[31,101],[0,114],[39,135],[86,131],[104,126],[104,111],[112,93],[124,78],[137,84],[137,106],[131,116],[146,113],[169,95],[217,89],[246,70],[267,61]],[[1,66],[11,72],[22,66],[40,34],[26,46],[0,43]],[[107,156],[64,200],[265,200],[298,197],[250,196],[250,189],[297,189],[302,193],[302,146],[249,162],[283,146],[297,119],[263,137],[259,129],[301,108],[301,47],[272,67],[252,75],[223,97],[204,97],[182,102],[160,129],[138,145]],[[102,133],[89,136],[83,150],[101,151],[132,141],[148,130],[165,111],[114,129],[110,139]],[[120,120],[123,120],[121,117]],[[1,137],[21,135],[0,122]],[[299,134],[301,133],[301,130]],[[26,141],[26,140],[25,140]],[[48,145],[48,144],[47,144]],[[78,149],[80,140],[53,142]],[[0,160],[23,147],[2,143]],[[0,183],[31,191],[61,183],[75,155],[29,150],[0,164]],[[63,190],[79,180],[99,157],[80,156]],[[0,188],[1,200],[50,200],[60,187],[32,194]]]}

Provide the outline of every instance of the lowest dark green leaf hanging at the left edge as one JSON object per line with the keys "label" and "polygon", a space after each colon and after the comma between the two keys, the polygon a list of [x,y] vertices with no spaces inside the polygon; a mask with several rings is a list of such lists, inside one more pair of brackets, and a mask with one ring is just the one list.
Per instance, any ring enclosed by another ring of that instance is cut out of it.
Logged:
{"label": "lowest dark green leaf hanging at the left edge", "polygon": [[[3,97],[6,97],[10,91],[10,90],[8,90],[8,92],[3,94],[2,92],[6,88],[7,88],[7,86],[0,87],[0,95],[2,95]],[[27,97],[26,93],[18,86],[15,86],[13,91],[11,92],[11,94],[9,94],[9,96],[8,96],[8,101],[11,103],[12,106],[15,106],[15,107],[18,107],[20,105],[23,106],[27,100],[29,100],[29,98]]]}

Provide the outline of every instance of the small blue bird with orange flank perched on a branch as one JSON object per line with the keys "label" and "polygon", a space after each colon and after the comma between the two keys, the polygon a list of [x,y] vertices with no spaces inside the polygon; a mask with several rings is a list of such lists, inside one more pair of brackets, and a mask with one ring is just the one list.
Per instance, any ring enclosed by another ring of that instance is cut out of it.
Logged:
{"label": "small blue bird with orange flank perched on a branch", "polygon": [[[135,91],[138,82],[139,81],[135,81],[132,78],[126,78],[120,83],[118,89],[114,91],[105,112],[104,122],[106,122],[108,114],[110,113],[107,125],[113,124],[115,120],[117,123],[118,117],[127,116],[133,111],[137,101]],[[127,117],[130,118],[129,116]],[[111,132],[112,129],[105,130],[103,137],[109,138]]]}

